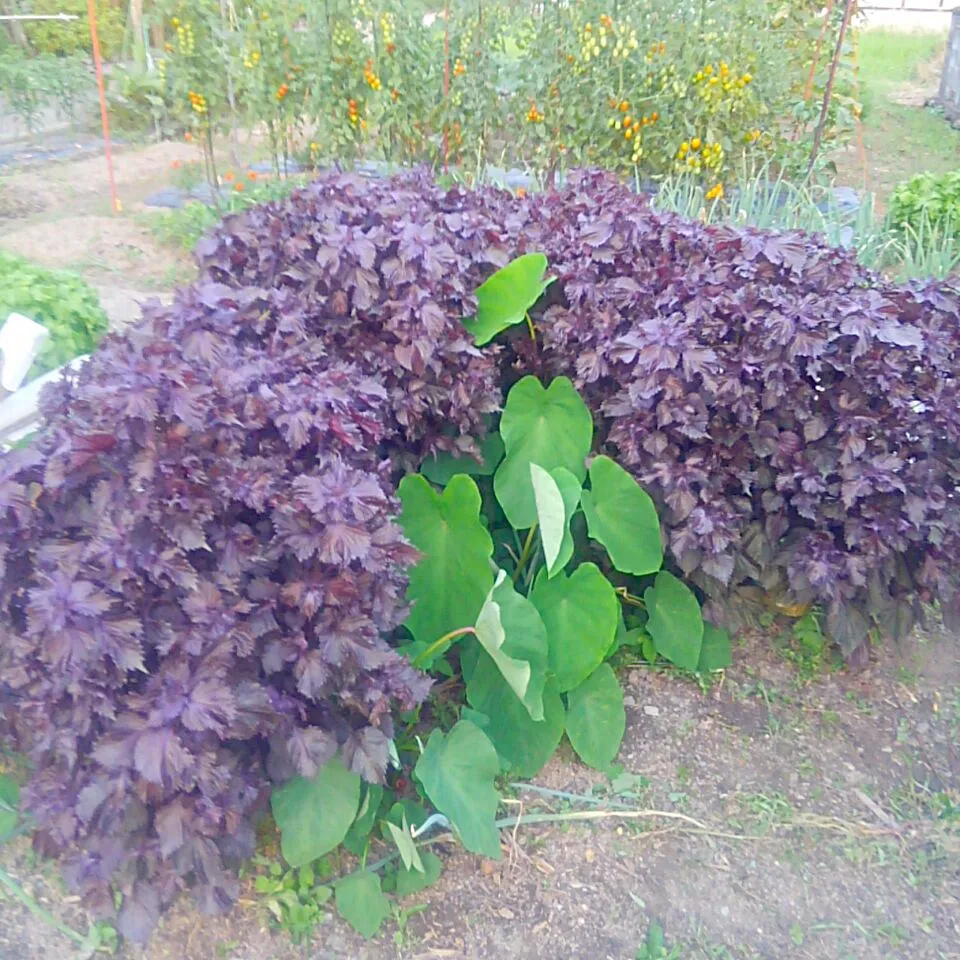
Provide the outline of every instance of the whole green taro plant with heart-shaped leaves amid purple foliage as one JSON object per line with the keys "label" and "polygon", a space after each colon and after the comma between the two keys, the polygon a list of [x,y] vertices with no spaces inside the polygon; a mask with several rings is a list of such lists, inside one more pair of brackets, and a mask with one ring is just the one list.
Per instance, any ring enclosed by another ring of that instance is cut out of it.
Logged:
{"label": "whole green taro plant with heart-shaped leaves amid purple foliage", "polygon": [[[536,336],[530,311],[551,283],[546,269],[543,254],[526,254],[477,289],[476,315],[464,320],[477,344],[523,323]],[[611,770],[626,727],[611,663],[619,650],[709,671],[729,665],[730,640],[664,569],[653,501],[595,450],[593,417],[567,377],[518,380],[480,451],[431,455],[400,481],[400,525],[420,552],[400,650],[457,682],[463,701],[428,735],[415,714],[416,738],[394,751],[397,765],[413,755],[419,795],[463,845],[497,859],[501,774],[534,776],[564,736],[584,763]],[[415,842],[436,815],[398,801],[396,790],[362,792],[339,759],[275,790],[272,805],[293,870],[341,843],[360,857],[359,871],[322,897],[332,893],[366,936],[392,913],[388,891],[414,893],[439,875],[439,859]],[[377,827],[400,861],[383,879],[365,866]],[[313,878],[274,869],[258,879],[278,922],[298,936],[318,922]]]}

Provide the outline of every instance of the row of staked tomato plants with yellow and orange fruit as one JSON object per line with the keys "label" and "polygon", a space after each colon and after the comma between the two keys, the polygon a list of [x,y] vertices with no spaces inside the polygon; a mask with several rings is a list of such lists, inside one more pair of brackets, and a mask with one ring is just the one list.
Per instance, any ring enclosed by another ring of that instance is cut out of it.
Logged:
{"label": "row of staked tomato plants with yellow and orange fruit", "polygon": [[[187,132],[266,133],[279,160],[683,172],[799,166],[836,17],[810,0],[175,0],[164,63]],[[853,121],[844,87],[826,138]],[[212,154],[209,162],[212,165]]]}

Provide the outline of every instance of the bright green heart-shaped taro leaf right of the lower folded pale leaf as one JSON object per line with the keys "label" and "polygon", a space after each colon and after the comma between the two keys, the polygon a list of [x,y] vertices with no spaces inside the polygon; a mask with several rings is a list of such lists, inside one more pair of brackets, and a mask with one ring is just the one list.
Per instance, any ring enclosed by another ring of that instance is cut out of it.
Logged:
{"label": "bright green heart-shaped taro leaf right of the lower folded pale leaf", "polygon": [[583,683],[610,653],[620,605],[596,564],[581,563],[571,576],[541,572],[530,600],[547,628],[550,669],[566,693]]}

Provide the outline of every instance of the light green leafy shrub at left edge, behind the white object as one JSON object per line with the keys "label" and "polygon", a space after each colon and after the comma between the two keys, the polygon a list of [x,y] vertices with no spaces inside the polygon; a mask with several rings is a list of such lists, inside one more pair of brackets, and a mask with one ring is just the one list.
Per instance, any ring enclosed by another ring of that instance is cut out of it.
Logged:
{"label": "light green leafy shrub at left edge, behind the white object", "polygon": [[78,276],[45,270],[12,253],[0,253],[0,319],[13,312],[50,331],[32,375],[89,353],[107,330],[96,293]]}

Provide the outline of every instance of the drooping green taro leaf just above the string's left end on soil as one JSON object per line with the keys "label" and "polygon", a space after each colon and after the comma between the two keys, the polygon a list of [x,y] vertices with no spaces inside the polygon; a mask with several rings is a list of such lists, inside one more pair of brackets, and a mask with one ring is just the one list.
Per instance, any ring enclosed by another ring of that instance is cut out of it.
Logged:
{"label": "drooping green taro leaf just above the string's left end on soil", "polygon": [[461,720],[445,734],[434,730],[414,769],[433,805],[453,824],[472,853],[500,859],[495,826],[500,794],[497,751],[483,731]]}

